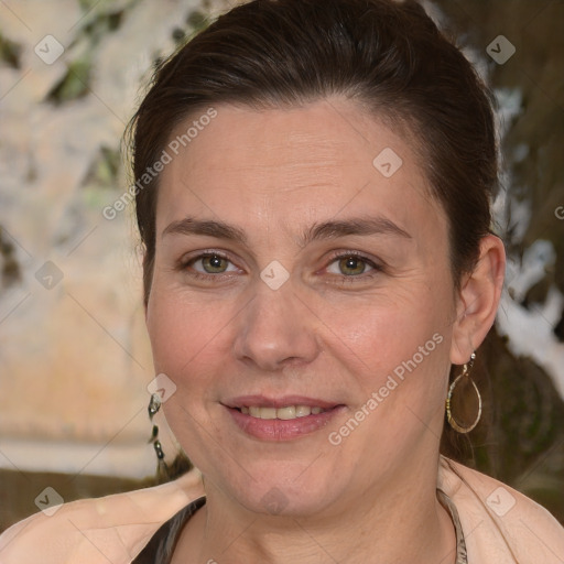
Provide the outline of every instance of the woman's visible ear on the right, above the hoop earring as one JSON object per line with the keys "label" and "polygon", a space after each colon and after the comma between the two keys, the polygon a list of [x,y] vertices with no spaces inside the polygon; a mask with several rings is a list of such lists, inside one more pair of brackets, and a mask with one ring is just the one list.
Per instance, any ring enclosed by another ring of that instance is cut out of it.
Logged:
{"label": "woman's visible ear on the right, above the hoop earring", "polygon": [[452,364],[467,362],[494,325],[505,272],[503,242],[495,235],[484,237],[476,268],[463,279],[458,294],[451,345]]}

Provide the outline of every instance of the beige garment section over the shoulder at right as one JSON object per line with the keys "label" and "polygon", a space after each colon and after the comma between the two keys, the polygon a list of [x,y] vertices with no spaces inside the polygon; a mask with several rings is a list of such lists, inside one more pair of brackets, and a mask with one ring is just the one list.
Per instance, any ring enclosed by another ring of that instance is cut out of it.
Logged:
{"label": "beige garment section over the shoulder at right", "polygon": [[441,457],[437,486],[458,510],[468,562],[564,561],[564,529],[527,496],[445,457]]}

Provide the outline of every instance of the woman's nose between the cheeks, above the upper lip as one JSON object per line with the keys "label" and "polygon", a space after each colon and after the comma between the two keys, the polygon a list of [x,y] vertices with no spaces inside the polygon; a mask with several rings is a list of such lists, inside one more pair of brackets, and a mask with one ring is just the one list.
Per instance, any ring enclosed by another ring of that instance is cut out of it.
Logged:
{"label": "woman's nose between the cheeks, above the upper lip", "polygon": [[257,282],[253,299],[238,316],[236,357],[261,371],[308,364],[318,355],[319,322],[288,281],[272,290]]}

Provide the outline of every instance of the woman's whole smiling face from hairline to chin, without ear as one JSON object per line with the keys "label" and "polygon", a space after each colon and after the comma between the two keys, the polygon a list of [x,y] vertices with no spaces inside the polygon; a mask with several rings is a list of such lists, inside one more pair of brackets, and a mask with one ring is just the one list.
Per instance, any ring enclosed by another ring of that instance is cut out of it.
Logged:
{"label": "woman's whole smiling face from hairline to chin, without ear", "polygon": [[199,123],[159,188],[147,323],[176,386],[164,412],[231,501],[343,510],[436,467],[445,214],[412,145],[350,101],[216,110],[173,133]]}

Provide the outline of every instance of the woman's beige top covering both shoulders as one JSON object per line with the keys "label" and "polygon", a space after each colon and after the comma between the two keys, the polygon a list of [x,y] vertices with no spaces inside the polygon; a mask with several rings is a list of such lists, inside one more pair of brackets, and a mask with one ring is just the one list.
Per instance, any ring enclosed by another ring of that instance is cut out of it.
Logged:
{"label": "woman's beige top covering both shoulders", "polygon": [[[457,510],[468,564],[564,563],[564,529],[522,494],[445,457],[437,488]],[[65,503],[0,535],[0,564],[130,564],[163,523],[202,496],[193,470],[162,486]]]}

